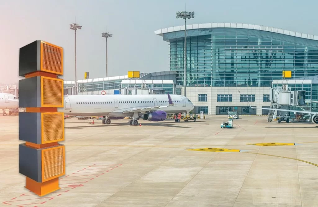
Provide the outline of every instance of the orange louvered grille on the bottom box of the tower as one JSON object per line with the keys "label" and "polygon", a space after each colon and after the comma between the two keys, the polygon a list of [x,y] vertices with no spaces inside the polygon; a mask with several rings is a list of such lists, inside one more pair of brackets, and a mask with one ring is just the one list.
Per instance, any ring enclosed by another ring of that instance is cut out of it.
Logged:
{"label": "orange louvered grille on the bottom box of the tower", "polygon": [[53,179],[65,173],[64,146],[42,150],[42,180]]}

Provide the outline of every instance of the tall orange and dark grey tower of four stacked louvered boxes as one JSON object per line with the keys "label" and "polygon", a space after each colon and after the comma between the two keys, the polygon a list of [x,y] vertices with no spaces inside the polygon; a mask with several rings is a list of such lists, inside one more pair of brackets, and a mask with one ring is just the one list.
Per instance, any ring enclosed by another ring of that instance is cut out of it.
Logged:
{"label": "tall orange and dark grey tower of four stacked louvered boxes", "polygon": [[59,189],[65,175],[63,48],[37,40],[20,48],[19,172],[25,188],[39,196]]}

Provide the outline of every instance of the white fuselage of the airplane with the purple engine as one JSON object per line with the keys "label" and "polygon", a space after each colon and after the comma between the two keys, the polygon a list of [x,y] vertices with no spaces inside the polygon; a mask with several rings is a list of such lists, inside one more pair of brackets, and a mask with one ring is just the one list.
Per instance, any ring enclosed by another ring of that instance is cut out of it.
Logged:
{"label": "white fuselage of the airplane with the purple engine", "polygon": [[[64,96],[64,112],[74,116],[131,116],[125,112],[136,107],[167,106],[160,110],[167,114],[184,113],[193,110],[190,100],[181,95],[170,95],[173,106],[169,106],[167,95],[72,95]],[[125,113],[123,113],[125,112]],[[146,112],[147,113],[147,112]],[[139,113],[142,115],[144,113]]]}

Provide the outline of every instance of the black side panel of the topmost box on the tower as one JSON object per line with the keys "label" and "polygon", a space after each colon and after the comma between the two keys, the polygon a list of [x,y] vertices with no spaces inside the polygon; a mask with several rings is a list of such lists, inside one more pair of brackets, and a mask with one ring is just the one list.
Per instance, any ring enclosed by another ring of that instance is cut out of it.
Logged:
{"label": "black side panel of the topmost box on the tower", "polygon": [[41,41],[37,40],[19,51],[19,76],[40,70]]}

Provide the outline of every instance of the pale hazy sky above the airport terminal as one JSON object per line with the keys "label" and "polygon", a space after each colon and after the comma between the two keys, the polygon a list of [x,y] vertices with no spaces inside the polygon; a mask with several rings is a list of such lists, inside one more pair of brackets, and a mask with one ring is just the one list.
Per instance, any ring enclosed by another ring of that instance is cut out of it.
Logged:
{"label": "pale hazy sky above the airport terminal", "polygon": [[77,77],[105,77],[127,71],[169,70],[169,47],[154,31],[183,25],[177,11],[194,11],[188,24],[246,23],[318,35],[315,0],[0,0],[0,83],[18,81],[19,48],[44,40],[64,48],[64,80],[74,79],[74,31],[77,32]]}

